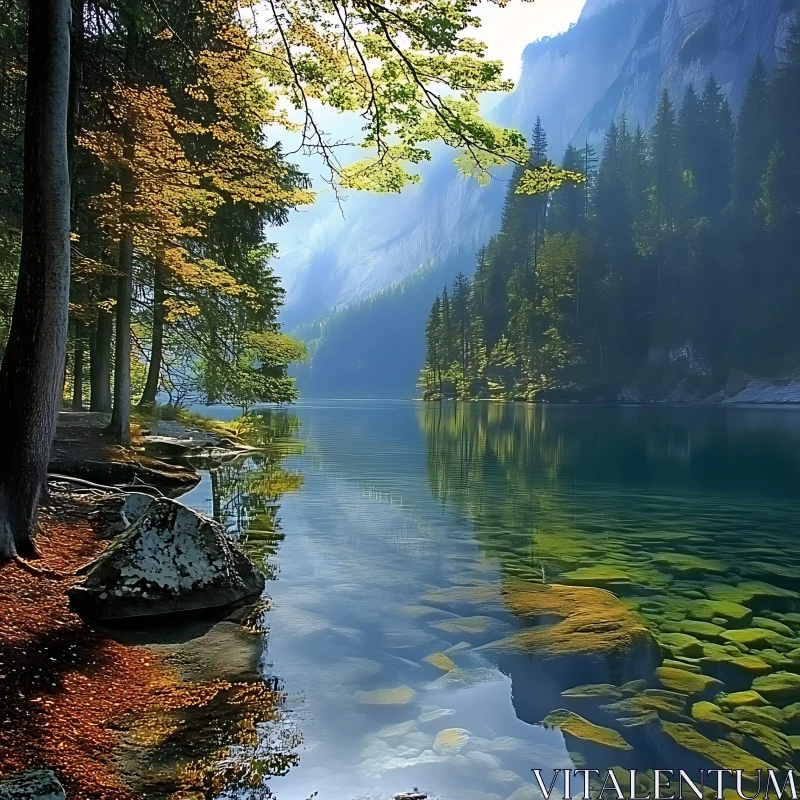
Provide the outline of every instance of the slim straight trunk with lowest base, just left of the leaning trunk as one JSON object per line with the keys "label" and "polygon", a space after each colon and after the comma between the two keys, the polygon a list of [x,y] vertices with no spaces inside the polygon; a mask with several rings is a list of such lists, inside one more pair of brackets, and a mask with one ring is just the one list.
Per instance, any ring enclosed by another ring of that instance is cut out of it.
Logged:
{"label": "slim straight trunk with lowest base, just left of the leaning trunk", "polygon": [[[125,60],[128,75],[133,75],[136,53],[136,26],[131,20]],[[128,165],[136,155],[134,132],[130,125],[123,131],[123,156]],[[126,166],[120,178],[122,204],[122,239],[117,266],[117,339],[114,348],[114,410],[109,431],[114,441],[126,447],[131,443],[131,294],[133,292],[133,231],[131,216],[136,202],[136,176]]]}

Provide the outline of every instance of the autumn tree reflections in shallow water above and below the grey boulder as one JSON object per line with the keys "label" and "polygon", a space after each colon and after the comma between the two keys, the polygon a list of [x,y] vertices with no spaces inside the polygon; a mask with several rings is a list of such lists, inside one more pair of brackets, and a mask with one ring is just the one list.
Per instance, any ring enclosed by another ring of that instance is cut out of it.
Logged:
{"label": "autumn tree reflections in shallow water above and below the grey boulder", "polygon": [[[300,452],[293,439],[299,421],[260,410],[237,428],[257,449],[202,465],[213,516],[274,578],[270,556],[283,539],[279,501],[303,484],[302,474],[283,466]],[[120,632],[152,649],[165,667],[152,707],[120,725],[120,771],[135,796],[266,800],[273,797],[269,779],[297,764],[302,737],[285,712],[282,681],[261,664],[268,606],[265,599],[217,619]]]}

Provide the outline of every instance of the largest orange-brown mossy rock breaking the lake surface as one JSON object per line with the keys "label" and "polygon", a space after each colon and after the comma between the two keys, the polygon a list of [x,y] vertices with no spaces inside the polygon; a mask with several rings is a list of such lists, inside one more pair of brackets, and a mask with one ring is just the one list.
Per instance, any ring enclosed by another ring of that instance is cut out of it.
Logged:
{"label": "largest orange-brown mossy rock breaking the lake surface", "polygon": [[648,674],[660,653],[642,620],[603,589],[509,581],[503,587],[509,610],[522,619],[556,622],[525,628],[480,649],[534,653],[545,658],[622,656]]}

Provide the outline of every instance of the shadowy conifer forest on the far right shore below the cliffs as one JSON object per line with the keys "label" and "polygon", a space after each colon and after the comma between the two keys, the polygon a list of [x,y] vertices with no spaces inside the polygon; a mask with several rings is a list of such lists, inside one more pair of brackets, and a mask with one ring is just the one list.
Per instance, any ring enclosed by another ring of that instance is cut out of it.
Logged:
{"label": "shadowy conifer forest on the far right shore below the cliffs", "polygon": [[[500,232],[433,304],[426,398],[700,400],[733,374],[800,363],[800,24],[752,68],[735,116],[714,77],[664,92],[649,130],[623,115],[580,173],[520,193]],[[538,123],[529,164],[551,162]],[[524,187],[523,187],[524,188]]]}

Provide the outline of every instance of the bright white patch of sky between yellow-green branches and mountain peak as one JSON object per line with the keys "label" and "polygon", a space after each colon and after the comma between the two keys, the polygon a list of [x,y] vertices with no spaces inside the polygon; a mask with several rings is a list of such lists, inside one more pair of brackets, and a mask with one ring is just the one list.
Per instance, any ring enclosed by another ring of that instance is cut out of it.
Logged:
{"label": "bright white patch of sky between yellow-green branches and mountain peak", "polygon": [[523,3],[510,0],[505,8],[482,3],[479,15],[483,25],[475,38],[488,45],[487,56],[503,61],[506,75],[519,78],[520,59],[525,45],[544,36],[555,36],[578,21],[586,0],[535,0]]}

